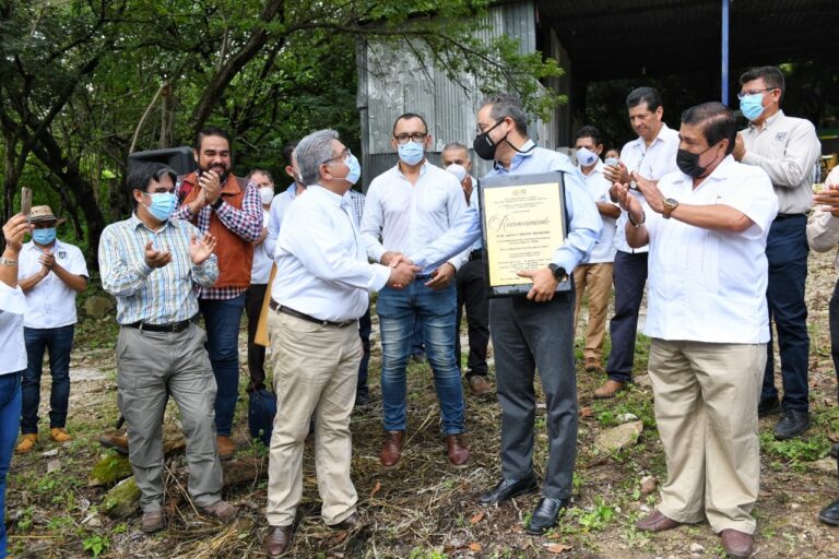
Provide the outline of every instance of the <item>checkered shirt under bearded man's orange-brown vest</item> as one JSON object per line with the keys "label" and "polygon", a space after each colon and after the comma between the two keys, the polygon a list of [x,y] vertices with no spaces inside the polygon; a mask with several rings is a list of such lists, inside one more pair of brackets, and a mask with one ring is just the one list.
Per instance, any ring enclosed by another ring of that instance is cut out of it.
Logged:
{"label": "checkered shirt under bearded man's orange-brown vest", "polygon": [[[236,181],[236,178],[231,176],[228,180]],[[181,185],[179,183],[176,189],[178,194]],[[178,199],[180,199],[180,194]],[[198,229],[201,234],[210,233],[210,217],[212,217],[213,212],[218,216],[222,225],[248,242],[253,242],[262,235],[262,199],[259,195],[259,187],[252,182],[248,182],[248,186],[245,188],[241,209],[235,207],[227,202],[222,202],[218,210],[213,210],[209,205],[202,207],[198,212],[197,219]],[[181,204],[178,207],[175,212],[175,217],[187,222],[192,222],[194,218],[187,204]],[[233,299],[247,290],[247,287],[201,287],[200,297],[202,299]]]}

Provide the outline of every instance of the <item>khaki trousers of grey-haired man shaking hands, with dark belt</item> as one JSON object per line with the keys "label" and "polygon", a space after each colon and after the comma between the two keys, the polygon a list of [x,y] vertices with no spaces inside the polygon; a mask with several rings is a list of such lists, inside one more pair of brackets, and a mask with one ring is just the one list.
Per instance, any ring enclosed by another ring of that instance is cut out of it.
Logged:
{"label": "khaki trousers of grey-haired man shaking hands, with dark belt", "polygon": [[303,496],[303,449],[315,415],[315,468],[323,501],[321,516],[338,524],[355,512],[358,496],[350,478],[362,341],[358,326],[320,325],[271,311],[276,416],[268,466],[268,523],[294,522]]}

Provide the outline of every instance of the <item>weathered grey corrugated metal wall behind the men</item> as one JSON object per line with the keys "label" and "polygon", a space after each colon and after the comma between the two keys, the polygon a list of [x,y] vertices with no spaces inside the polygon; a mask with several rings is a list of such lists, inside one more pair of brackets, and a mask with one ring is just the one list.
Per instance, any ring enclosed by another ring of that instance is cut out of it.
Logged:
{"label": "weathered grey corrugated metal wall behind the men", "polygon": [[[487,43],[508,35],[520,39],[520,52],[533,52],[536,24],[533,1],[495,7],[487,14],[488,26],[476,32]],[[417,60],[430,56],[424,45],[412,43],[403,49],[375,44],[359,44],[357,104],[362,119],[362,164],[364,189],[374,177],[397,164],[391,145],[393,121],[403,112],[416,112],[428,121],[434,136],[432,163],[439,163],[439,152],[449,142],[472,145],[475,112],[482,94],[475,76],[450,80],[442,68],[425,67]],[[540,145],[556,145],[556,121],[532,126],[533,140]],[[472,153],[473,174],[484,175],[489,163]]]}

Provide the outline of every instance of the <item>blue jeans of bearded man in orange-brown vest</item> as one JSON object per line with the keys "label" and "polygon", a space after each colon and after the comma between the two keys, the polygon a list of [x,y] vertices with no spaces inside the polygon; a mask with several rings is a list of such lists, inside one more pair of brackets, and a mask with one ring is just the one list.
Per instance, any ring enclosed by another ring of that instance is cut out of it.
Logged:
{"label": "blue jeans of bearded man in orange-brown vest", "polygon": [[218,392],[215,395],[216,435],[231,436],[233,414],[239,399],[239,325],[245,294],[233,299],[199,299],[204,316],[206,352]]}

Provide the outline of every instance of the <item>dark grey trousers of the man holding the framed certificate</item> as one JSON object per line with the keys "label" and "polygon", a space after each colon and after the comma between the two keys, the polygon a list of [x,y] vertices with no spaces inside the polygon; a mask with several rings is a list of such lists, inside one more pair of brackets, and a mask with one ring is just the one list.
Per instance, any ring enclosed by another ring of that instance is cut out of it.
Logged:
{"label": "dark grey trousers of the man holding the framed certificate", "polygon": [[533,423],[539,369],[547,404],[548,459],[542,495],[571,496],[577,454],[577,374],[574,368],[574,293],[551,301],[524,297],[492,299],[489,330],[495,348],[495,378],[501,404],[501,475],[533,475]]}

